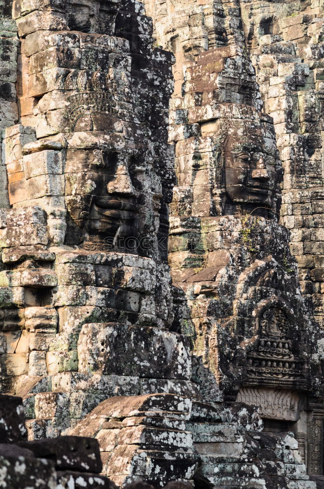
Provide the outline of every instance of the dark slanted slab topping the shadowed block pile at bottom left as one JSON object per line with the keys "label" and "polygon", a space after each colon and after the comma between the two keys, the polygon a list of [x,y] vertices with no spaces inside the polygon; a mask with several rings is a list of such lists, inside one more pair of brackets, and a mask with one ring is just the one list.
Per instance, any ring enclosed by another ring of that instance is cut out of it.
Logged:
{"label": "dark slanted slab topping the shadowed block pile at bottom left", "polygon": [[52,440],[20,442],[19,446],[31,450],[35,457],[51,460],[57,469],[97,474],[102,470],[99,444],[93,438],[62,436]]}

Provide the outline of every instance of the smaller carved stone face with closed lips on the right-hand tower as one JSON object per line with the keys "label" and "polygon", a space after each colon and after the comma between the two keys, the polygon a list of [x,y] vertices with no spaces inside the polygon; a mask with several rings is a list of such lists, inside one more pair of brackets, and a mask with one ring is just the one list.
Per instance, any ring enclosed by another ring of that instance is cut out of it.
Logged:
{"label": "smaller carved stone face with closed lips on the right-hand tower", "polygon": [[261,136],[229,136],[223,178],[233,202],[271,207],[279,178],[275,145]]}

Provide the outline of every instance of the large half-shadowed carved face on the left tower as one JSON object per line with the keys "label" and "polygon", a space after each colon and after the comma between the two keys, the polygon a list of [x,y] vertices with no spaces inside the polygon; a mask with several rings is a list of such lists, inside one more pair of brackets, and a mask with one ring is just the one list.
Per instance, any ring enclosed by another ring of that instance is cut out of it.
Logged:
{"label": "large half-shadowed carved face on the left tower", "polygon": [[127,238],[138,239],[148,208],[142,181],[145,166],[123,152],[81,150],[68,152],[68,170],[78,158],[83,159],[83,171],[66,174],[66,200],[83,241],[122,246]]}

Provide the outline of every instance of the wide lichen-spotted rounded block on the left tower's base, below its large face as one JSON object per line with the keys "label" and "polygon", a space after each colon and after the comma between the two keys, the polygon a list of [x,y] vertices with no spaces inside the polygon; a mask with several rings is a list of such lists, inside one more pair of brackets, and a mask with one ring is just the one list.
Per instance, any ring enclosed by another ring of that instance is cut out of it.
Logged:
{"label": "wide lichen-spotted rounded block on the left tower's base, below its large face", "polygon": [[86,324],[78,341],[79,371],[189,379],[188,347],[187,338],[167,330],[119,323]]}

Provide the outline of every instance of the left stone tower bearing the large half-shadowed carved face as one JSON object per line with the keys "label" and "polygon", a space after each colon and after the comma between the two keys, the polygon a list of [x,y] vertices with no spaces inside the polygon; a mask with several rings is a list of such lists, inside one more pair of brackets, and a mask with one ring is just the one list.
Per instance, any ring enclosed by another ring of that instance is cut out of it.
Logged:
{"label": "left stone tower bearing the large half-shadowed carved face", "polygon": [[1,384],[25,399],[35,438],[111,395],[195,392],[188,342],[167,331],[173,56],[153,47],[141,3],[77,5],[13,4]]}

